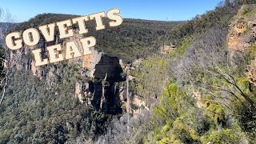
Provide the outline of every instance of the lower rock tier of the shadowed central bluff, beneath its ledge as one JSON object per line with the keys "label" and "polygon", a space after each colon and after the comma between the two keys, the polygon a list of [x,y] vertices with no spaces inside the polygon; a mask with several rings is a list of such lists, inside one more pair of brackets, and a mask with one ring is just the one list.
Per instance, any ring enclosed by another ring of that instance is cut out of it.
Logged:
{"label": "lower rock tier of the shadowed central bluff, beneath its ledge", "polygon": [[75,94],[86,106],[92,106],[97,110],[103,110],[111,114],[121,113],[125,110],[122,101],[126,99],[123,93],[124,82],[106,81],[98,79],[90,82],[76,82]]}

